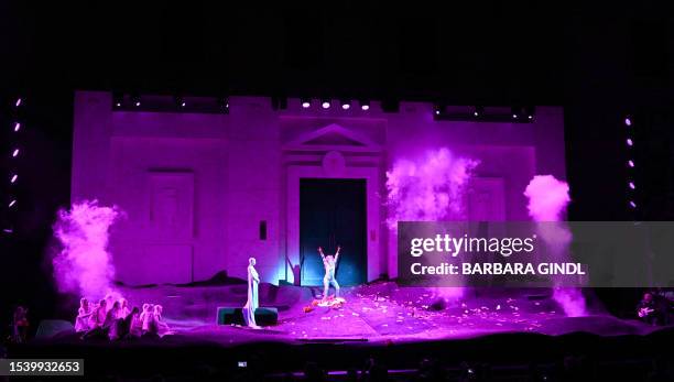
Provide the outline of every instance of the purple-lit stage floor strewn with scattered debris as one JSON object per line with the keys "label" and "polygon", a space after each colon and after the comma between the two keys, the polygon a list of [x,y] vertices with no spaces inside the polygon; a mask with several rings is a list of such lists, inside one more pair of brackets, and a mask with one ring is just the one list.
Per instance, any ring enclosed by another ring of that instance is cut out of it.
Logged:
{"label": "purple-lit stage floor strewn with scattered debris", "polygon": [[152,375],[156,370],[180,375],[200,367],[236,370],[240,361],[273,373],[302,370],[307,360],[345,370],[369,357],[396,369],[415,368],[422,358],[456,364],[471,360],[544,363],[566,354],[605,362],[639,360],[671,354],[666,345],[674,338],[668,328],[607,314],[565,317],[545,290],[467,288],[461,297],[445,291],[443,306],[438,291],[378,282],[343,288],[347,304],[341,308],[315,307],[305,313],[318,288],[262,284],[261,305],[279,308],[279,325],[262,329],[215,323],[218,306],[242,305],[244,284],[120,291],[132,304],[164,305],[175,334],[157,340],[109,342],[83,341],[63,332],[14,346],[10,357],[85,358],[88,370],[101,375],[108,371]]}

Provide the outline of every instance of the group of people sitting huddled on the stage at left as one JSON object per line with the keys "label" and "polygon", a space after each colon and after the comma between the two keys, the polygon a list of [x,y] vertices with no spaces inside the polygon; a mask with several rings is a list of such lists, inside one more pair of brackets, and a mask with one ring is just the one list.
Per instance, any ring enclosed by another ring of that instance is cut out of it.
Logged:
{"label": "group of people sitting huddled on the stage at left", "polygon": [[115,298],[110,294],[98,304],[81,298],[75,331],[81,332],[83,339],[162,337],[171,331],[162,318],[162,310],[161,305],[152,304],[143,304],[142,312],[138,306],[130,309],[126,298]]}

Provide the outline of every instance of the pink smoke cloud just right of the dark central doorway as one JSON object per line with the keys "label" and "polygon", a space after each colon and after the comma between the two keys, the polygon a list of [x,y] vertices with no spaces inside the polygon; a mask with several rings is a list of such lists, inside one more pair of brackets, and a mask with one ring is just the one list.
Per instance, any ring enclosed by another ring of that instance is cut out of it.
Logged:
{"label": "pink smoke cloud just right of the dark central doorway", "polygon": [[449,149],[428,151],[418,161],[399,160],[387,172],[391,229],[398,221],[464,218],[464,193],[478,161]]}

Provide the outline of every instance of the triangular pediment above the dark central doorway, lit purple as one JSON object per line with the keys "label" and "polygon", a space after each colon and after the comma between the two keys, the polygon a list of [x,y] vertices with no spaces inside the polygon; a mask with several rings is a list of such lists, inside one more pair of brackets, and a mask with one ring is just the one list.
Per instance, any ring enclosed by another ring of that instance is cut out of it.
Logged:
{"label": "triangular pediment above the dark central doorway, lit purple", "polygon": [[325,128],[301,134],[284,145],[292,151],[381,151],[379,144],[356,131],[331,123]]}

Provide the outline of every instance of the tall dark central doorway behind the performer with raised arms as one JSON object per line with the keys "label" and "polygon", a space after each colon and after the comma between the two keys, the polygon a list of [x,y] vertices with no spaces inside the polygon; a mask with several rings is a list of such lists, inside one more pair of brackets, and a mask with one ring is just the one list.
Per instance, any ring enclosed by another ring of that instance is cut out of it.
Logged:
{"label": "tall dark central doorway behind the performer with raised arms", "polygon": [[300,179],[300,257],[302,285],[323,285],[325,270],[317,248],[334,254],[340,285],[367,281],[365,179]]}

